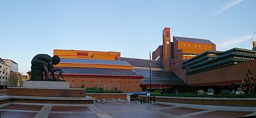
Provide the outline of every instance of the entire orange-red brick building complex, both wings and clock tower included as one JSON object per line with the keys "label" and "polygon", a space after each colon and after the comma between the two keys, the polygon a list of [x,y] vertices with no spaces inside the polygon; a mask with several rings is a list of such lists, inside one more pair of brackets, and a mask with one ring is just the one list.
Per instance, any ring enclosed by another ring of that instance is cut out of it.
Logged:
{"label": "entire orange-red brick building complex, both wings and clock tower included", "polygon": [[247,67],[255,71],[252,65],[256,51],[216,51],[216,44],[208,39],[183,36],[173,36],[171,41],[170,31],[164,28],[163,44],[152,53],[151,76],[149,59],[124,58],[115,51],[54,49],[53,55],[61,57],[56,67],[63,69],[64,79],[73,87],[123,92],[149,90],[150,79],[152,89],[165,92],[183,91],[187,84],[206,88],[230,86],[242,82]]}

